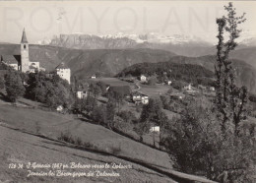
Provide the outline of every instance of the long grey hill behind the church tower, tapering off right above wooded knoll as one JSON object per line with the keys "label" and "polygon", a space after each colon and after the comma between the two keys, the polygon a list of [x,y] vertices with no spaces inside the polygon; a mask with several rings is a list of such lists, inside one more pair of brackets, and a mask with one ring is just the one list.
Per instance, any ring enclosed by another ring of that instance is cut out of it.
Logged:
{"label": "long grey hill behind the church tower, tapering off right above wooded knoll", "polygon": [[[0,44],[0,54],[20,54],[20,45]],[[30,45],[30,60],[53,70],[60,62],[71,68],[72,74],[88,77],[100,73],[113,76],[136,63],[163,62],[176,54],[157,49],[70,49],[49,45]]]}

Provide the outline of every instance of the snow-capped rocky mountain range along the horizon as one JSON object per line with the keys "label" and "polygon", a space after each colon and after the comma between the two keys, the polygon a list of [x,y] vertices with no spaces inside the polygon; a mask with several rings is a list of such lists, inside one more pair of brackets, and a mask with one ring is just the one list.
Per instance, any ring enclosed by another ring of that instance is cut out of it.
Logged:
{"label": "snow-capped rocky mountain range along the horizon", "polygon": [[[84,33],[60,34],[51,40],[45,39],[40,42],[48,42],[49,45],[75,49],[130,49],[151,48],[162,49],[184,56],[204,56],[216,53],[216,46],[206,40],[183,34],[164,35],[160,33],[146,34],[107,34],[94,35]],[[238,48],[256,46],[256,38],[246,37],[241,40]]]}

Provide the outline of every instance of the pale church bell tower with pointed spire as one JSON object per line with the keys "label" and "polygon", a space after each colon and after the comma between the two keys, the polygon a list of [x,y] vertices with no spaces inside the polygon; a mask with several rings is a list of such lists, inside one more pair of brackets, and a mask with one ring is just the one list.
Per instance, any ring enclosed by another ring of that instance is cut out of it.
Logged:
{"label": "pale church bell tower with pointed spire", "polygon": [[26,36],[25,29],[23,30],[23,37],[21,41],[21,67],[21,70],[24,73],[29,71],[30,67],[29,42]]}

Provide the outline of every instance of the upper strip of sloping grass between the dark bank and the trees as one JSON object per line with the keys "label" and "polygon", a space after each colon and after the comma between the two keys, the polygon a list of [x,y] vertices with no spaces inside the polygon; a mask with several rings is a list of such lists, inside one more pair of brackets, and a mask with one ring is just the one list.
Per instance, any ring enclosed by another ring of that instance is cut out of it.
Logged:
{"label": "upper strip of sloping grass between the dark bank and the trees", "polygon": [[69,132],[73,137],[79,137],[83,142],[91,143],[105,152],[120,149],[120,155],[166,168],[171,167],[167,153],[134,142],[102,126],[75,119],[72,115],[0,105],[0,121],[55,139],[61,132]]}

